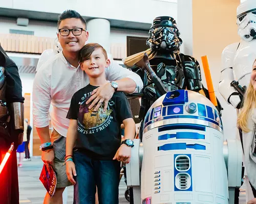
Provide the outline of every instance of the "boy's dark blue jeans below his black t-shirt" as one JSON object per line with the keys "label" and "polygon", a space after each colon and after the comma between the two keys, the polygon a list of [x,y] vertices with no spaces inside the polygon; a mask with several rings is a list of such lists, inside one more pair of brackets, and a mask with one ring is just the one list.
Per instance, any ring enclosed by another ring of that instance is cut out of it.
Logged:
{"label": "boy's dark blue jeans below his black t-shirt", "polygon": [[76,185],[74,203],[95,204],[96,185],[99,204],[118,204],[120,163],[117,160],[94,160],[74,151]]}

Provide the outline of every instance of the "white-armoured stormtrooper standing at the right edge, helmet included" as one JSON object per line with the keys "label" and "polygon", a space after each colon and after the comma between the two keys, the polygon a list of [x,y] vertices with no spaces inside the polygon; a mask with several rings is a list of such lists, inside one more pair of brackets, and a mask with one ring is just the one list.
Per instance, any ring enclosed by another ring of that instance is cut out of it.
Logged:
{"label": "white-armoured stormtrooper standing at the right edge, helmet included", "polygon": [[252,65],[256,59],[256,1],[247,0],[237,9],[238,34],[242,41],[228,45],[222,53],[219,91],[234,108],[240,108],[242,98],[230,86],[232,81],[248,86]]}

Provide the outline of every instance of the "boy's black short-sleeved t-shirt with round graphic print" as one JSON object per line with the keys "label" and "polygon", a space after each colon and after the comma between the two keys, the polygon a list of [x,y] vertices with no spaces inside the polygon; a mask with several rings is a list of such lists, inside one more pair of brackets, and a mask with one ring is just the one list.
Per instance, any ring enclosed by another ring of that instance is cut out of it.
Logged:
{"label": "boy's black short-sleeved t-shirt with round graphic print", "polygon": [[104,112],[104,104],[98,111],[89,110],[86,101],[96,86],[87,85],[77,91],[67,115],[77,120],[77,140],[74,149],[84,151],[89,157],[98,160],[112,160],[121,143],[120,125],[124,119],[133,118],[130,104],[124,93],[115,92]]}

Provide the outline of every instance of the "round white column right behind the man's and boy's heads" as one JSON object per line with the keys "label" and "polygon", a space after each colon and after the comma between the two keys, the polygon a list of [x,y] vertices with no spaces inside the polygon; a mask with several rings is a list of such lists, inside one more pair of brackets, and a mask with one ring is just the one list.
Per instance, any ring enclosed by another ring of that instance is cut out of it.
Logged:
{"label": "round white column right behind the man's and boy's heads", "polygon": [[94,18],[87,22],[89,32],[88,43],[99,43],[110,54],[110,21],[102,18]]}

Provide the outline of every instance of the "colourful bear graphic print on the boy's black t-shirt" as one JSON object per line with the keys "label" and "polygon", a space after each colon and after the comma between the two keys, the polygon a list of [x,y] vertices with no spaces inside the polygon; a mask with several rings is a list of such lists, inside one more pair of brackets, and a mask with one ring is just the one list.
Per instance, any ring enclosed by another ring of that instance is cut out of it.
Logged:
{"label": "colourful bear graphic print on the boy's black t-shirt", "polygon": [[77,130],[83,134],[93,134],[95,132],[99,132],[105,129],[105,127],[107,127],[113,119],[111,116],[112,109],[110,108],[110,104],[112,105],[113,101],[108,104],[106,111],[103,110],[104,104],[101,104],[99,109],[94,111],[94,107],[89,109],[90,104],[86,104],[89,97],[90,96],[82,98],[83,101],[80,103],[78,113]]}

